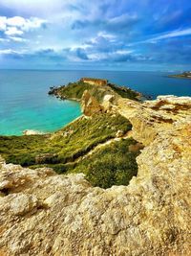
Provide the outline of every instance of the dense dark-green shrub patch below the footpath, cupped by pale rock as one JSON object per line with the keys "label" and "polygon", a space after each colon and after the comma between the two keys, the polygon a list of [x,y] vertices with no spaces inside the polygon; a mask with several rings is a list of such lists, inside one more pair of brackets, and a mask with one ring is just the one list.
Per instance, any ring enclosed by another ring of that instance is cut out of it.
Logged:
{"label": "dense dark-green shrub patch below the footpath, cupped by pale rock", "polygon": [[82,159],[73,170],[68,167],[68,172],[83,172],[94,186],[101,188],[128,185],[132,177],[138,173],[136,157],[139,151],[129,151],[129,146],[136,143],[133,139],[113,142]]}

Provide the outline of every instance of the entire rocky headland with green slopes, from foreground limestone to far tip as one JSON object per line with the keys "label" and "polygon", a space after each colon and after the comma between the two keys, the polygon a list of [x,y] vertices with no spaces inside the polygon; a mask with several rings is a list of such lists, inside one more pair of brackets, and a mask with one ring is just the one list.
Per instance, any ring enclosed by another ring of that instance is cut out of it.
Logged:
{"label": "entire rocky headland with green slopes, from foreground limestone to far tip", "polygon": [[49,94],[83,114],[0,136],[0,255],[190,255],[191,98],[89,78]]}

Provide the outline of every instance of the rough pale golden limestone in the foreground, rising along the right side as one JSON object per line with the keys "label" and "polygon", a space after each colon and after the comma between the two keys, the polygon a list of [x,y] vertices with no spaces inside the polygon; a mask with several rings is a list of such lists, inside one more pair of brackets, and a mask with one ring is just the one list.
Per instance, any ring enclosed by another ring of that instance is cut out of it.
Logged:
{"label": "rough pale golden limestone in the foreground, rising along the right side", "polygon": [[128,186],[104,190],[82,174],[0,159],[0,255],[191,255],[190,104],[118,101],[146,145]]}

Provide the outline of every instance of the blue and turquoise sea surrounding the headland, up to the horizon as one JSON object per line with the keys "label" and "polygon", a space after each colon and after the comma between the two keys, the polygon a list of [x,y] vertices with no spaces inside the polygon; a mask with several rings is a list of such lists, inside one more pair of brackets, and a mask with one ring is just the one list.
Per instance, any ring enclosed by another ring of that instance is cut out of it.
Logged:
{"label": "blue and turquoise sea surrounding the headland, up to the horizon", "polygon": [[81,77],[107,79],[156,98],[191,96],[191,80],[167,78],[169,73],[139,71],[0,70],[0,134],[21,135],[25,129],[53,131],[78,117],[80,106],[48,96],[50,86]]}

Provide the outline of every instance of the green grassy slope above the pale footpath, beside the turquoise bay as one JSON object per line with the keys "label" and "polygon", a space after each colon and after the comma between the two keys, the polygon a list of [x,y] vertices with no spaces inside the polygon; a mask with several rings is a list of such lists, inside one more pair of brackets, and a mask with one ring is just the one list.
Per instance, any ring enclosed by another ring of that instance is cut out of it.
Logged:
{"label": "green grassy slope above the pale footpath, beside the turquoise bay", "polygon": [[66,164],[91,151],[99,143],[131,129],[128,120],[108,113],[84,117],[52,135],[0,136],[0,154],[8,163]]}

